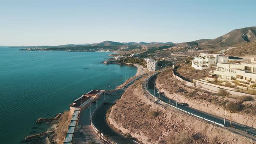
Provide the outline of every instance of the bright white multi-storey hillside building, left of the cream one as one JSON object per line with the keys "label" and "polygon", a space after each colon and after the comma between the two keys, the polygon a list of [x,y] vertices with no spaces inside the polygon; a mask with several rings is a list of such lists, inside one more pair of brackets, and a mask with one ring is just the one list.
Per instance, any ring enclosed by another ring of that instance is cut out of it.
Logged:
{"label": "bright white multi-storey hillside building, left of the cream one", "polygon": [[200,53],[199,56],[195,56],[192,61],[192,67],[195,69],[207,69],[210,65],[216,65],[218,62],[227,62],[228,57],[219,54],[207,54]]}

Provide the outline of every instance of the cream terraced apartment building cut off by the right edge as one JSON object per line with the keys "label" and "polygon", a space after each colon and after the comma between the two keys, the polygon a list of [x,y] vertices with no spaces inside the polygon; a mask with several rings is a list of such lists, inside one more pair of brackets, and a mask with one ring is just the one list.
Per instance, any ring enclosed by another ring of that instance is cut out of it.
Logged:
{"label": "cream terraced apartment building cut off by the right edge", "polygon": [[252,58],[248,62],[217,63],[217,66],[212,67],[210,73],[221,79],[236,79],[254,84],[256,82],[256,58]]}

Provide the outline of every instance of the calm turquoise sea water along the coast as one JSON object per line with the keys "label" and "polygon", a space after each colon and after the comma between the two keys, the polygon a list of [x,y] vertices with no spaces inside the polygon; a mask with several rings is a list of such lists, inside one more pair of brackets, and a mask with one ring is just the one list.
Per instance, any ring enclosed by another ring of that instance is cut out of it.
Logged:
{"label": "calm turquoise sea water along the coast", "polygon": [[[91,89],[105,89],[134,76],[134,66],[95,64],[109,52],[18,51],[0,47],[0,143],[19,144],[46,130],[35,124],[69,110]],[[109,88],[108,88],[109,89]]]}

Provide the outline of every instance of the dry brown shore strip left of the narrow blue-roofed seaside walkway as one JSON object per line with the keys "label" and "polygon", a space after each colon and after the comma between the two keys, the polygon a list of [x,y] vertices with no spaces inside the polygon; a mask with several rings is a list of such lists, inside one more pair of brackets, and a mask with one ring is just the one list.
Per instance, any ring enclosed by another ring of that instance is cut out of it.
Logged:
{"label": "dry brown shore strip left of the narrow blue-roofed seaside walkway", "polygon": [[59,118],[59,124],[56,128],[56,133],[55,133],[55,142],[57,144],[63,144],[66,137],[66,133],[69,128],[69,123],[71,118],[72,116],[69,115],[69,111],[65,111]]}

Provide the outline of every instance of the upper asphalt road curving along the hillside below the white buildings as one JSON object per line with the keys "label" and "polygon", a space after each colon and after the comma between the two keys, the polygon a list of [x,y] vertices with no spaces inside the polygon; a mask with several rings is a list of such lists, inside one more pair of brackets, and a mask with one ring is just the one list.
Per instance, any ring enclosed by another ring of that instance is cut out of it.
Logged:
{"label": "upper asphalt road curving along the hillside below the white buildings", "polygon": [[[151,92],[152,95],[154,95],[155,80],[156,80],[156,76],[153,76],[148,80],[148,87],[147,88],[148,88],[148,91]],[[159,90],[157,88],[155,88],[155,97],[159,98],[159,94],[157,93],[157,91],[159,91]],[[166,95],[164,95],[163,93],[160,94],[160,100],[164,101],[166,103],[169,103],[169,98]],[[173,100],[173,99],[170,99],[170,100],[171,100],[170,104],[176,106],[176,101]],[[200,117],[207,118],[211,121],[215,121],[217,123],[224,124],[224,118],[220,118],[220,117],[217,117],[217,116],[214,116],[214,115],[210,115],[210,114],[205,113],[203,111],[199,111],[197,109],[190,108],[189,106],[177,105],[177,108],[181,108],[184,111],[188,111],[190,113],[193,113],[194,115],[198,115]],[[251,128],[251,127],[248,127],[246,125],[238,124],[238,123],[233,122],[233,121],[232,121],[232,124],[230,125],[230,121],[227,120],[227,119],[226,119],[225,124],[226,124],[226,128],[229,129],[230,131],[235,131],[236,133],[243,134],[247,137],[250,137],[250,138],[256,140],[256,136],[255,136],[256,135],[256,129],[255,128]]]}

